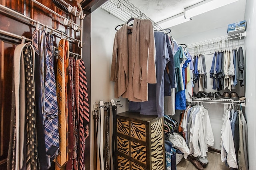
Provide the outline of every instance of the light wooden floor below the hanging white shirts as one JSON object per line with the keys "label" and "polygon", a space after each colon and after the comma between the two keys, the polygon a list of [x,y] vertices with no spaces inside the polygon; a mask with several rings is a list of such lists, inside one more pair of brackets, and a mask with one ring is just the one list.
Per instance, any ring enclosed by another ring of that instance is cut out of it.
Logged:
{"label": "light wooden floor below the hanging white shirts", "polygon": [[[220,154],[212,151],[207,152],[209,163],[204,168],[205,170],[230,170],[224,162],[220,160]],[[177,164],[177,170],[197,170],[196,167],[187,159],[182,158]]]}

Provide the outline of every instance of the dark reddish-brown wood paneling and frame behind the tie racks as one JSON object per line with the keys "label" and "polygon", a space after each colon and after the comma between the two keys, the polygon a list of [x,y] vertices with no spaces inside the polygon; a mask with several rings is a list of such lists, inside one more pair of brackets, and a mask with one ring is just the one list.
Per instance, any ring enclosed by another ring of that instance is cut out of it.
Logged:
{"label": "dark reddish-brown wood paneling and frame behind the tie racks", "polygon": [[[47,6],[48,8],[54,10],[58,14],[72,19],[76,24],[80,25],[79,18],[76,18],[74,15],[69,14],[63,8],[55,2],[58,0],[37,0],[41,4]],[[67,3],[72,6],[77,6],[75,0],[65,0]],[[93,0],[92,0],[93,1]],[[54,28],[60,30],[72,38],[80,40],[80,32],[75,32],[74,30],[64,26],[64,20],[55,14],[52,14],[48,10],[42,8],[38,4],[30,0],[0,0],[0,4],[15,10],[24,16],[37,20],[42,24],[46,24],[49,28]],[[0,29],[17,34],[19,36],[25,36],[26,38],[32,39],[32,33],[35,30],[36,24],[29,22],[26,19],[18,18],[13,14],[8,14],[0,10]],[[84,42],[86,45],[82,49],[82,55],[84,56],[84,61],[86,62],[86,71],[87,76],[90,81],[90,26],[91,18],[90,14],[84,19]],[[54,36],[54,46],[58,46],[60,38]],[[0,35],[0,169],[6,169],[6,161],[8,154],[8,144],[10,136],[10,113],[11,113],[11,94],[12,94],[12,61],[13,54],[16,45],[20,44],[21,40],[17,40],[11,37],[1,36]],[[80,49],[78,48],[77,42],[70,42],[70,51],[80,54]],[[86,58],[85,58],[86,57]],[[90,87],[90,82],[88,82]],[[90,91],[90,89],[88,89]],[[89,94],[90,102],[90,94]],[[86,140],[86,151],[88,155],[86,156],[86,169],[90,169],[90,137]],[[54,169],[54,167],[51,167]]]}

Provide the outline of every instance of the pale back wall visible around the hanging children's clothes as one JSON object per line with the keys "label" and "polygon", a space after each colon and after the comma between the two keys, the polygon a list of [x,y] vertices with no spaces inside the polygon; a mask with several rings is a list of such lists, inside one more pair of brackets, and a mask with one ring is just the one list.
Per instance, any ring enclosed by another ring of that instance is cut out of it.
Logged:
{"label": "pale back wall visible around the hanging children's clothes", "polygon": [[[243,18],[238,18],[238,21],[242,21]],[[227,28],[228,26],[225,27],[220,27],[220,28],[216,28],[214,30],[210,30],[210,31],[206,31],[206,32],[199,32],[198,34],[193,34],[190,36],[186,36],[186,37],[181,37],[181,38],[177,38],[176,40],[179,43],[185,43],[185,44],[189,44],[189,43],[196,43],[196,42],[200,42],[200,41],[204,41],[204,40],[209,40],[212,38],[217,38],[217,37],[221,37],[221,36],[225,36],[227,33]],[[174,33],[173,33],[174,34]],[[175,35],[174,35],[175,38]],[[238,48],[238,45],[242,45],[242,47],[244,47],[244,40],[240,40],[238,43],[238,40],[233,42],[233,45],[236,42],[236,47]],[[231,42],[232,44],[232,42]],[[214,44],[215,47],[215,44]],[[208,45],[204,46],[204,50],[205,53],[210,53],[210,49],[212,49],[212,52],[214,53],[214,47],[212,47],[212,45]],[[190,48],[187,49],[191,55],[194,55],[194,48]],[[212,64],[212,58],[213,55],[205,55],[205,62],[206,62],[206,71],[207,71],[207,89],[204,89],[204,91],[206,91],[207,93],[209,92],[216,92],[217,90],[213,90],[212,89],[212,84],[213,84],[213,80],[210,79],[210,69],[211,69],[211,64]],[[238,82],[240,83],[240,82]],[[235,90],[236,93],[238,93],[239,96],[244,95],[244,87],[238,87],[239,85],[237,85]],[[198,83],[195,84],[195,88],[194,91],[197,93],[198,92]],[[229,90],[221,90],[220,93],[224,93],[225,91],[230,92]],[[218,150],[221,149],[220,146],[220,136],[221,136],[221,127],[223,124],[222,121],[222,116],[223,116],[223,112],[224,112],[224,105],[223,104],[209,104],[209,103],[203,103],[204,107],[206,107],[206,109],[208,110],[209,113],[209,117],[210,117],[210,122],[212,125],[212,131],[214,134],[214,146],[213,148],[216,148]],[[174,116],[174,119],[176,119],[177,121],[179,121],[179,115],[180,111],[176,111],[176,114]]]}

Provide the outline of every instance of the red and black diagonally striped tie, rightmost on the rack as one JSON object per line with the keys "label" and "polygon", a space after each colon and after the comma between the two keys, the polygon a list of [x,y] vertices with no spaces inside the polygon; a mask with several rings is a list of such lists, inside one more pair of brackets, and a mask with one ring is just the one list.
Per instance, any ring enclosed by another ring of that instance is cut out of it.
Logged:
{"label": "red and black diagonally striped tie, rightmost on the rack", "polygon": [[[79,62],[79,61],[78,61]],[[78,167],[84,170],[84,154],[85,154],[85,139],[89,136],[89,103],[86,82],[86,72],[84,61],[79,62],[79,142],[80,156],[78,158]],[[76,70],[78,71],[78,69]]]}

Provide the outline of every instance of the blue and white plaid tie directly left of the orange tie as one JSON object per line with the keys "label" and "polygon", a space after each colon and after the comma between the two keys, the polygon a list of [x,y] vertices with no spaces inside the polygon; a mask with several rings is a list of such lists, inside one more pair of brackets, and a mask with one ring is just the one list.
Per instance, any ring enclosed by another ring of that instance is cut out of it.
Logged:
{"label": "blue and white plaid tie directly left of the orange tie", "polygon": [[56,156],[59,145],[58,130],[58,105],[56,95],[56,83],[53,67],[53,38],[52,35],[46,35],[46,77],[45,77],[45,120],[44,134],[46,154],[53,160]]}

